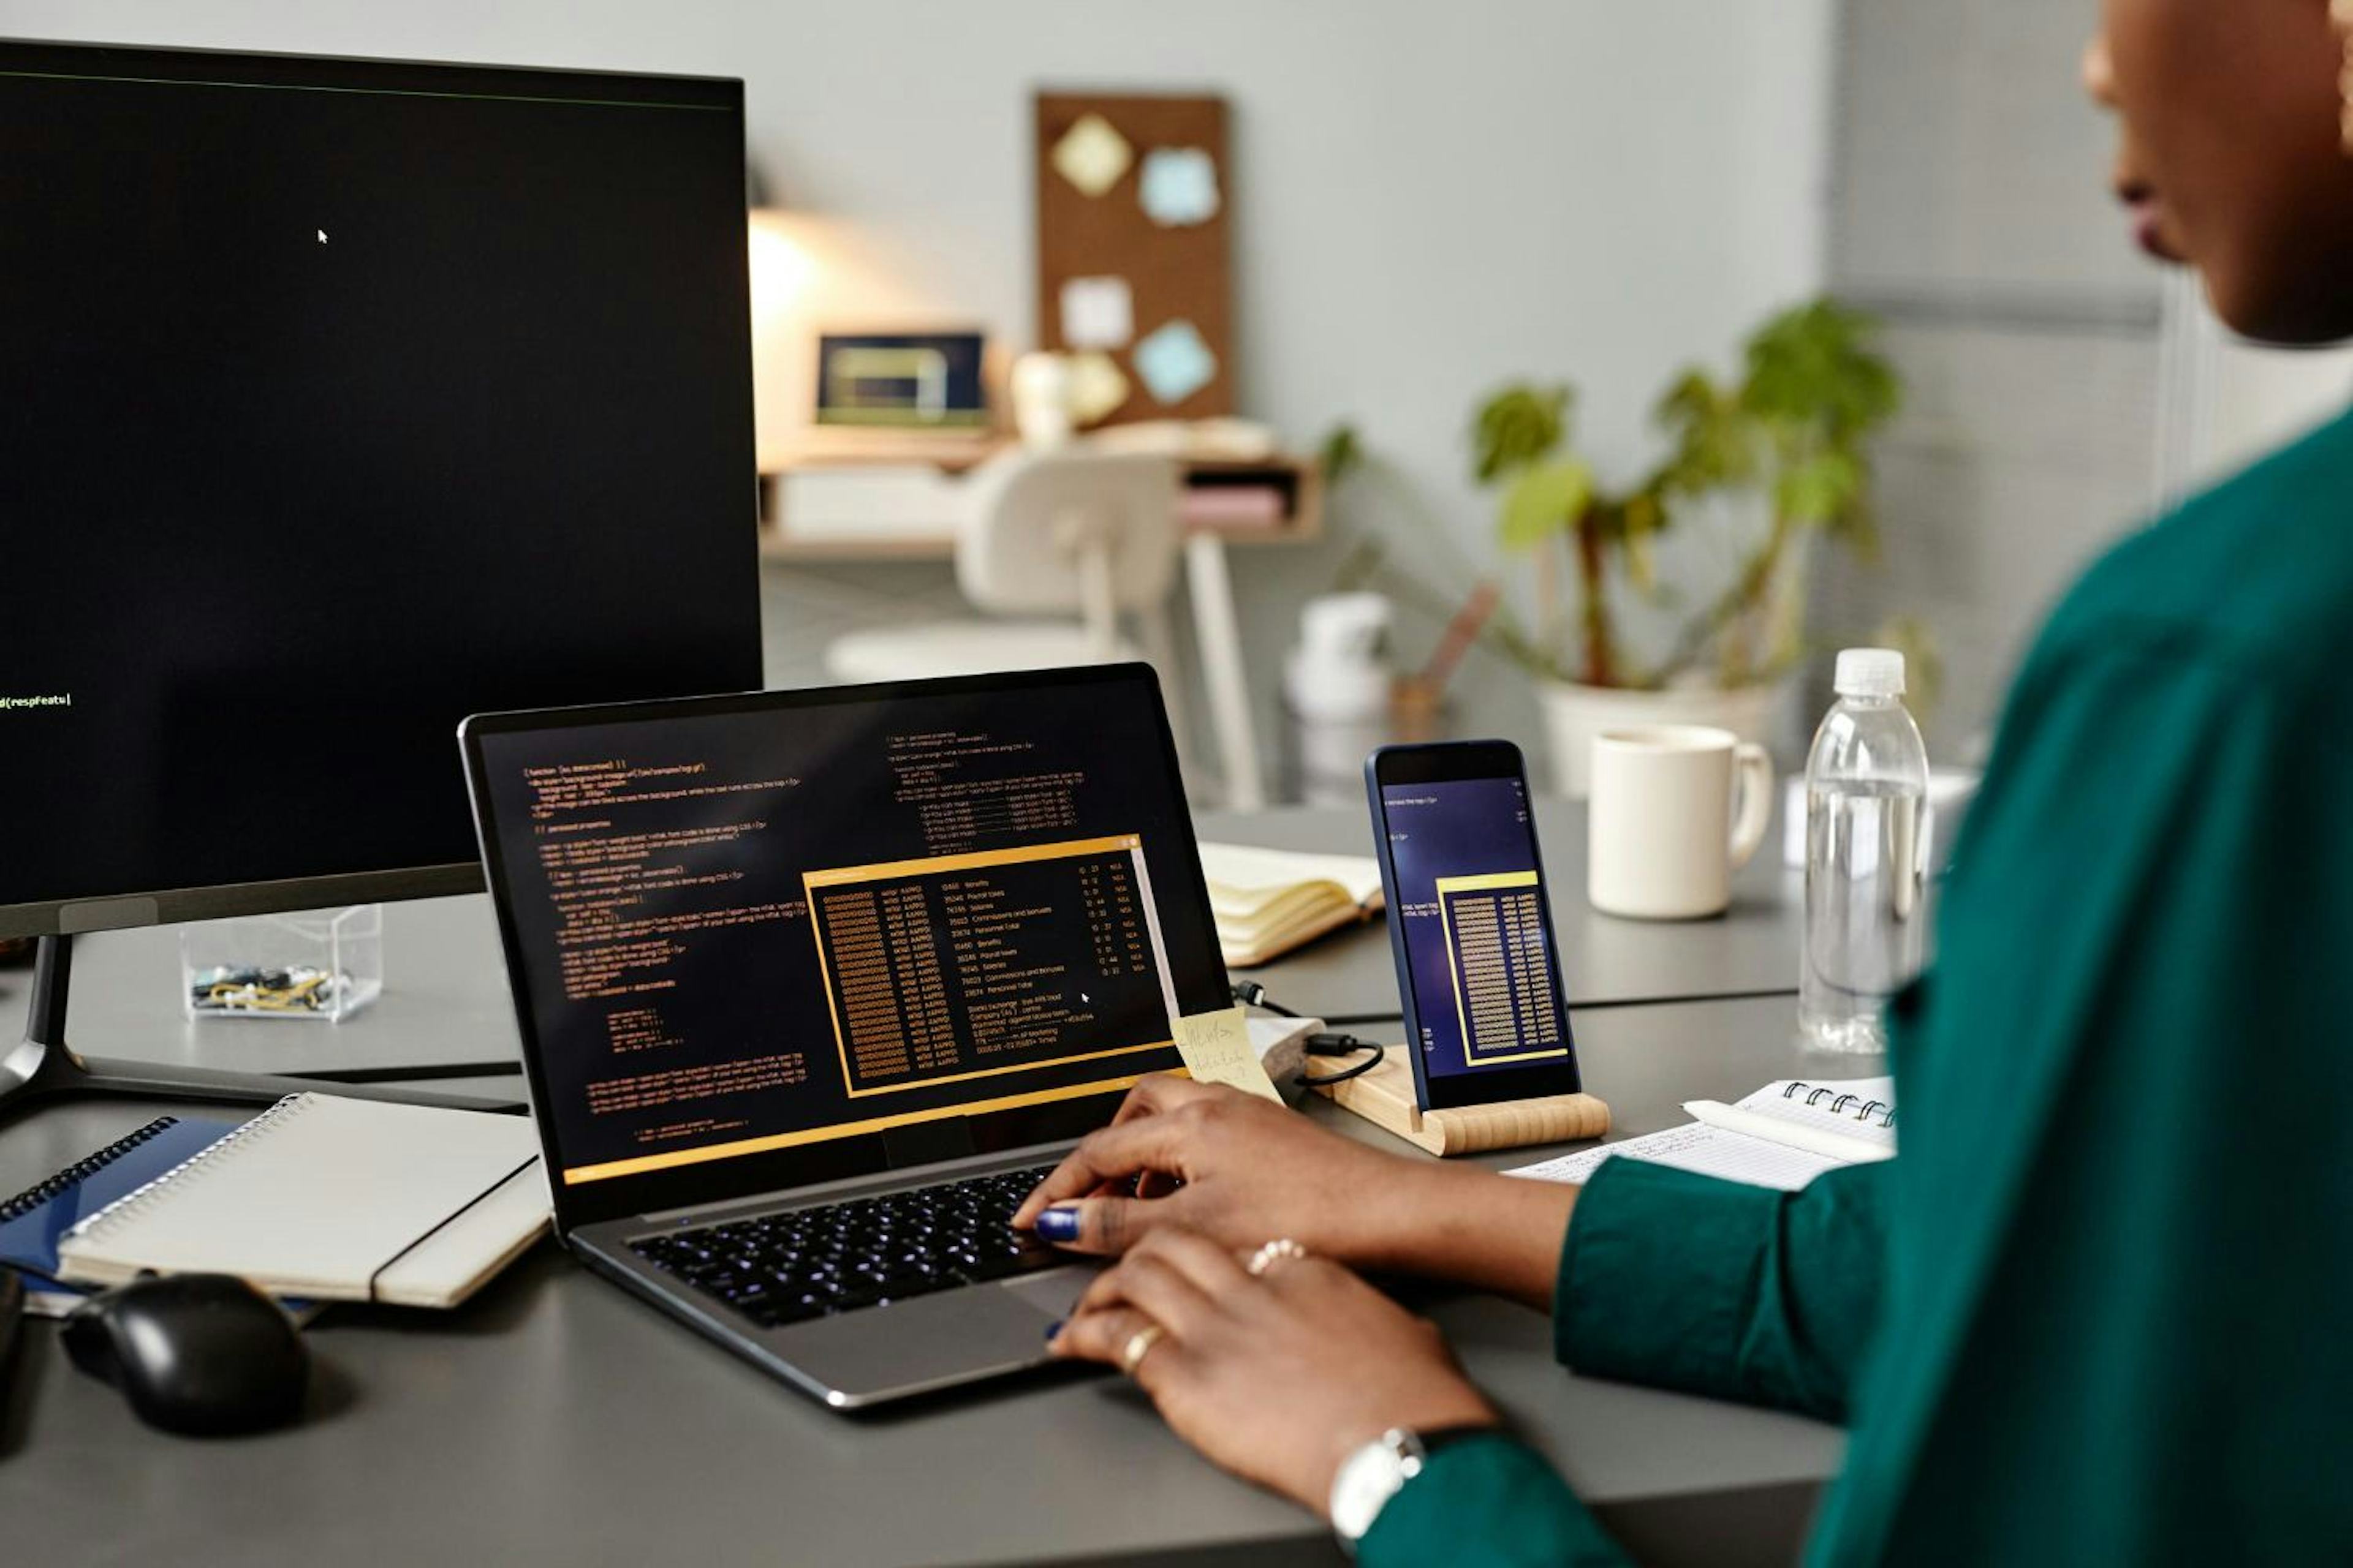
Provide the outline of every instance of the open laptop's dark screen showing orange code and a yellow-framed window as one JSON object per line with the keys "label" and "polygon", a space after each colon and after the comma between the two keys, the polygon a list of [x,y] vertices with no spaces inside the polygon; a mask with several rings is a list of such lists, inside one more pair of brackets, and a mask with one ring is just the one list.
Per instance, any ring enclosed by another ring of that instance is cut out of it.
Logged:
{"label": "open laptop's dark screen showing orange code and a yellow-framed window", "polygon": [[967,1152],[934,1124],[1125,1091],[1226,1004],[1146,668],[466,733],[560,1187]]}

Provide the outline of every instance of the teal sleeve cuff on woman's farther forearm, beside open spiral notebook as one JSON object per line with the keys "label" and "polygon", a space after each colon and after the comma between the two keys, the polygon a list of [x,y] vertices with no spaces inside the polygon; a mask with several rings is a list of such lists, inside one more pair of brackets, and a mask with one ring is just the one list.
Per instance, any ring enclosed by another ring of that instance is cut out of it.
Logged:
{"label": "teal sleeve cuff on woman's farther forearm, beside open spiral notebook", "polygon": [[1774,1192],[1605,1159],[1560,1253],[1560,1359],[1845,1420],[1880,1316],[1892,1175],[1847,1166]]}

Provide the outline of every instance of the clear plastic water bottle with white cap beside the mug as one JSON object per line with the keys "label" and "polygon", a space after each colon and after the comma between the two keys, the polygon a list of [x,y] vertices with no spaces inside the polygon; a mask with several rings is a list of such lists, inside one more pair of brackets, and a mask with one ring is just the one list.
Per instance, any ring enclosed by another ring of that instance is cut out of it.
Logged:
{"label": "clear plastic water bottle with white cap beside the mug", "polygon": [[1885,1051],[1887,999],[1920,971],[1927,745],[1901,698],[1901,654],[1847,649],[1805,759],[1798,1034],[1814,1051]]}

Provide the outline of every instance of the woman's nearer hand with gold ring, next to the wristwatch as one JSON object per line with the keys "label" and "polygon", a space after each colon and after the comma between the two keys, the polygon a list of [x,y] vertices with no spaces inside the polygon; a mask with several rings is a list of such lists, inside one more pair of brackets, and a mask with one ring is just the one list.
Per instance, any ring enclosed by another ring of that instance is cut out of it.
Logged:
{"label": "woman's nearer hand with gold ring, next to the wristwatch", "polygon": [[1315,1514],[1341,1460],[1391,1427],[1497,1422],[1428,1319],[1325,1258],[1252,1276],[1200,1234],[1155,1229],[1094,1279],[1052,1349],[1120,1366],[1148,1328],[1129,1375],[1176,1436]]}

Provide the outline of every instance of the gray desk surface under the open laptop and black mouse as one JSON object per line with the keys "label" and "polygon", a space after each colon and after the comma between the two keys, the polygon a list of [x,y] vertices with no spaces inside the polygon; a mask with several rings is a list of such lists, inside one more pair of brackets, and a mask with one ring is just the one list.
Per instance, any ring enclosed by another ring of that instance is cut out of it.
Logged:
{"label": "gray desk surface under the open laptop and black mouse", "polygon": [[[449,1016],[468,1016],[456,994]],[[1786,999],[1607,1009],[1577,1032],[1621,1133],[1680,1121],[1699,1093],[1868,1070],[1805,1060]],[[0,1128],[0,1192],[153,1112],[71,1103]],[[1386,1140],[1327,1105],[1313,1114]],[[1838,1465],[1833,1429],[1572,1378],[1546,1319],[1501,1300],[1431,1309],[1645,1559],[1788,1561]],[[459,1312],[336,1309],[311,1342],[322,1375],[306,1425],[193,1443],[132,1422],[35,1328],[0,1401],[12,1561],[1337,1561],[1304,1514],[1193,1458],[1118,1380],[845,1420],[553,1246]]]}

